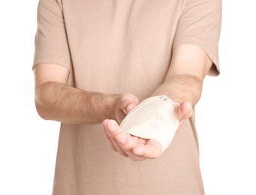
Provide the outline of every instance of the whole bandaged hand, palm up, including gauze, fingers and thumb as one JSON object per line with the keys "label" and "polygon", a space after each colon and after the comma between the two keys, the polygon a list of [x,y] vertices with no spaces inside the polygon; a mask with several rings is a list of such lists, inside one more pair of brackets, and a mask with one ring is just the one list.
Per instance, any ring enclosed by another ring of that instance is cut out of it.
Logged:
{"label": "whole bandaged hand, palm up, including gauze, fingers and thumb", "polygon": [[191,116],[191,103],[174,104],[166,96],[142,101],[119,125],[103,122],[104,134],[113,150],[132,160],[160,156],[170,145],[182,120]]}

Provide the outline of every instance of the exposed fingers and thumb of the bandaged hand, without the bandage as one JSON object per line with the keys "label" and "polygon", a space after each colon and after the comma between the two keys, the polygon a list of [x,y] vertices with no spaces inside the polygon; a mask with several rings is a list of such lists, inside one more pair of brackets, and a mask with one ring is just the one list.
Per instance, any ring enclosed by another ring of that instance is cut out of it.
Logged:
{"label": "exposed fingers and thumb of the bandaged hand, without the bandage", "polygon": [[[188,119],[193,113],[191,103],[185,101],[179,106],[176,106],[174,113],[179,118],[180,124],[182,124],[182,121]],[[134,161],[140,161],[153,159],[162,154],[162,148],[159,142],[124,133],[120,129],[119,124],[114,120],[107,119],[102,124],[104,135],[110,147],[114,151],[118,151],[122,156],[130,157]]]}

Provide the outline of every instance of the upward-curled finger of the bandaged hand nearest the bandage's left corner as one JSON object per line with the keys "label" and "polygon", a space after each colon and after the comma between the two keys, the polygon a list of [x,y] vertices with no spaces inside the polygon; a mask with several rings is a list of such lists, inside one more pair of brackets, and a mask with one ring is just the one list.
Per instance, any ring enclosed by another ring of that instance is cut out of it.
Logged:
{"label": "upward-curled finger of the bandaged hand nearest the bandage's left corner", "polygon": [[111,142],[113,142],[113,145],[115,145],[116,150],[121,154],[122,156],[128,157],[128,154],[125,153],[125,151],[122,150],[122,148],[119,146],[119,142],[116,140],[116,134],[122,132],[119,129],[119,125],[114,120],[109,120],[106,123],[107,127],[107,133],[110,136]]}

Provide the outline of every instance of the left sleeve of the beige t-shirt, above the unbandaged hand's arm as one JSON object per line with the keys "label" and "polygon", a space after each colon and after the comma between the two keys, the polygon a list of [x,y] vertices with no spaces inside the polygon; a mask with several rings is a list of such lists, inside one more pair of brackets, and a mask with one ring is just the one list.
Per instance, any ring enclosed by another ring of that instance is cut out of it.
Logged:
{"label": "left sleeve of the beige t-shirt, above the unbandaged hand's arm", "polygon": [[62,65],[68,70],[71,67],[62,4],[58,0],[40,0],[38,3],[33,68],[41,63]]}

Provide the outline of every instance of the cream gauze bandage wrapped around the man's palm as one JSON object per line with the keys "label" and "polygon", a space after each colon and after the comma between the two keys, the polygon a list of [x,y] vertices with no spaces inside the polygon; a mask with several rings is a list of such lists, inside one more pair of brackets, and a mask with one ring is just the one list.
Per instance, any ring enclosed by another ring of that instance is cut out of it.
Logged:
{"label": "cream gauze bandage wrapped around the man's palm", "polygon": [[144,139],[155,139],[164,151],[179,126],[173,113],[176,104],[165,95],[147,98],[126,115],[120,124],[121,130]]}

